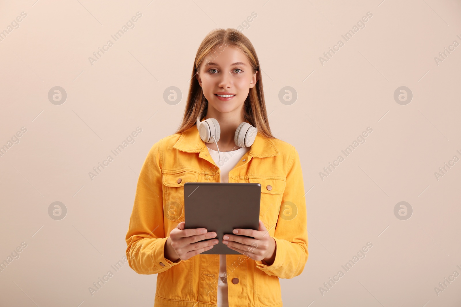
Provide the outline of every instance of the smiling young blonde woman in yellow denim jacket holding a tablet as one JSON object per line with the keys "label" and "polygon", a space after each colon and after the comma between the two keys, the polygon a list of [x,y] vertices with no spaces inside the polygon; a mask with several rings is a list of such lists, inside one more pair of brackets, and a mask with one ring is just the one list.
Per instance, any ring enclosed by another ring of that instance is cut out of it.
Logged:
{"label": "smiling young blonde woman in yellow denim jacket holding a tablet", "polygon": [[[236,29],[208,33],[195,57],[182,123],[152,146],[142,166],[126,235],[130,267],[158,273],[154,307],[279,307],[278,278],[303,271],[301,163],[295,147],[272,136],[267,117],[251,42]],[[184,229],[185,182],[260,183],[259,230],[216,237]],[[200,255],[219,241],[239,254]]]}

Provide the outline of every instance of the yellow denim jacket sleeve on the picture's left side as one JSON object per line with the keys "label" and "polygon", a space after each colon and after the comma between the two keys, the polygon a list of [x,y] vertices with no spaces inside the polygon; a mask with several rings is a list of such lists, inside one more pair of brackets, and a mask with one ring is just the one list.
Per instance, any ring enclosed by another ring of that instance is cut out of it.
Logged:
{"label": "yellow denim jacket sleeve on the picture's left side", "polygon": [[163,221],[163,184],[161,141],[155,143],[144,161],[136,186],[135,203],[125,240],[126,258],[138,274],[156,274],[168,270],[182,260],[165,258]]}

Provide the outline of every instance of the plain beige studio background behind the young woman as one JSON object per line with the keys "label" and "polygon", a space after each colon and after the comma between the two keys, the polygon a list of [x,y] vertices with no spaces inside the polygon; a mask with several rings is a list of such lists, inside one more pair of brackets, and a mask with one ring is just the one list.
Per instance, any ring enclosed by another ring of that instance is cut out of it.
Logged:
{"label": "plain beige studio background behind the young woman", "polygon": [[[461,43],[460,1],[35,1],[0,2],[1,31],[27,14],[0,41],[0,146],[27,129],[0,157],[0,261],[27,244],[0,273],[2,306],[153,306],[157,276],[127,263],[93,296],[88,288],[125,255],[137,174],[180,123],[201,40],[242,23],[272,131],[298,150],[307,192],[309,258],[300,276],[280,279],[284,306],[460,306],[461,277],[434,290],[461,274],[461,162],[434,175],[461,158],[461,46],[434,60]],[[136,12],[135,27],[91,65]],[[338,40],[344,46],[320,64]],[[48,100],[55,86],[65,103]],[[163,99],[171,86],[183,93],[175,105]],[[296,102],[281,103],[285,86]],[[401,86],[409,104],[394,100]],[[90,180],[136,127],[135,142]],[[366,142],[321,180],[367,127]],[[67,208],[62,220],[48,215],[55,201]],[[413,208],[408,220],[394,214],[401,201]],[[345,272],[367,242],[366,258]]]}

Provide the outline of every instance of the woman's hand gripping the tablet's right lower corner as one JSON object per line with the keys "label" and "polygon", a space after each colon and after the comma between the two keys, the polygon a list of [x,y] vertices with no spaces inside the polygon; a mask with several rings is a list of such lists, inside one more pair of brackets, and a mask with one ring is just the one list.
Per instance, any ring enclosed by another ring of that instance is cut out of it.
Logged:
{"label": "woman's hand gripping the tablet's right lower corner", "polygon": [[236,235],[226,234],[223,236],[223,243],[230,249],[248,255],[253,260],[265,261],[266,263],[269,261],[272,264],[275,259],[276,243],[261,220],[259,220],[259,231],[236,228],[233,232]]}

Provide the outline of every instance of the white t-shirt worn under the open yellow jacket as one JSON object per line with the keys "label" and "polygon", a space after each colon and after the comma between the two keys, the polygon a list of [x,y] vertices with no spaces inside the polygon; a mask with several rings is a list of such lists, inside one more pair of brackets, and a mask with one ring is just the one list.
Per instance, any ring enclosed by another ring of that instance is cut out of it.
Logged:
{"label": "white t-shirt worn under the open yellow jacket", "polygon": [[[221,156],[221,182],[229,182],[229,171],[237,165],[249,149],[249,147],[241,147],[236,151],[219,151],[219,155]],[[216,165],[219,165],[218,151],[208,148],[208,152]],[[226,255],[219,255],[218,304],[216,306],[229,307]]]}

